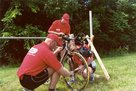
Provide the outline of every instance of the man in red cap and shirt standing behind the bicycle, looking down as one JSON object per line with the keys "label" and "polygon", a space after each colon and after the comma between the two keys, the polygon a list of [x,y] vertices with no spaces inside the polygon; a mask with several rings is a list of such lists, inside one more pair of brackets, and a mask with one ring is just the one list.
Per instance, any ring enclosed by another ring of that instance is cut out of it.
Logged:
{"label": "man in red cap and shirt standing behind the bicycle, looking down", "polygon": [[[70,16],[68,13],[64,13],[61,19],[55,20],[50,28],[48,29],[49,34],[55,34],[60,38],[61,45],[63,46],[63,39],[61,38],[62,35],[69,36],[70,35],[70,24],[69,24]],[[58,59],[61,58],[64,50],[62,50],[58,55]]]}

